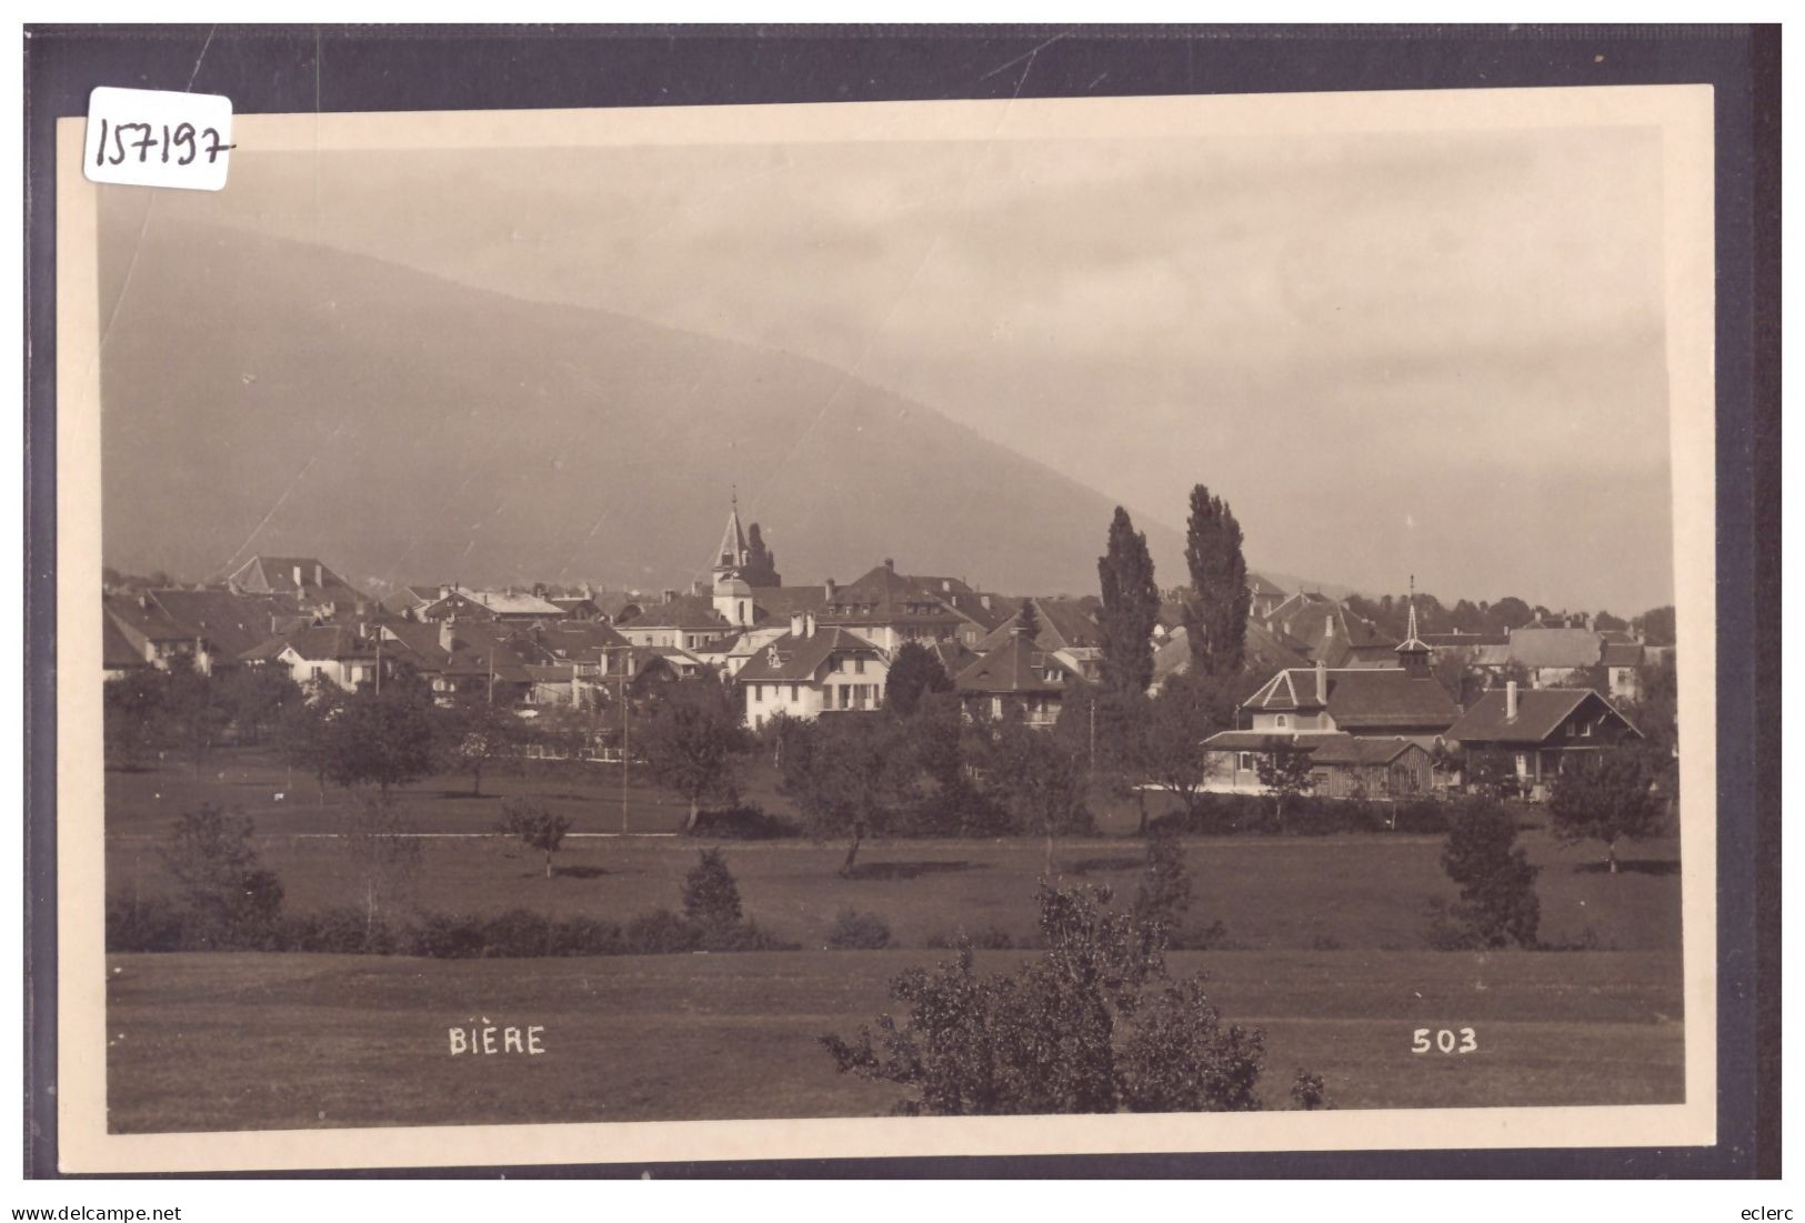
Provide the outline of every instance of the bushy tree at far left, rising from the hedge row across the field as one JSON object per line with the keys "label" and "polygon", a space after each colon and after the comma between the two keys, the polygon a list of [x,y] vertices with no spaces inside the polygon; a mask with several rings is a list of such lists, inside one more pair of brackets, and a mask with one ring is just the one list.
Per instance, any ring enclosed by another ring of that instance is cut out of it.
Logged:
{"label": "bushy tree at far left, rising from the hedge row across the field", "polygon": [[282,915],[282,880],[258,859],[251,821],[208,803],[184,812],[161,850],[195,938],[213,947],[265,945]]}

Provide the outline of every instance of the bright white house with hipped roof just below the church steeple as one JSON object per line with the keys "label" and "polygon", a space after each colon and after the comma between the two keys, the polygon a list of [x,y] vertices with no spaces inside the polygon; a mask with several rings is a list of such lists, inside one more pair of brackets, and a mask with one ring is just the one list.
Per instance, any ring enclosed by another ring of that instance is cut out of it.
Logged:
{"label": "bright white house with hipped roof just below the church steeple", "polygon": [[890,678],[886,655],[847,628],[796,613],[791,630],[740,667],[735,680],[754,731],[776,714],[814,720],[825,713],[881,709]]}

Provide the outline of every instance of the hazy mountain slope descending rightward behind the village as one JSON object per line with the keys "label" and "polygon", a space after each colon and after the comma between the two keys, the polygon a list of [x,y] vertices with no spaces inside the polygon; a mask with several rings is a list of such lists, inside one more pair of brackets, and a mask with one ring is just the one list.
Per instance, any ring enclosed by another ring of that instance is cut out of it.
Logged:
{"label": "hazy mountain slope descending rightward behind the village", "polygon": [[[791,581],[1096,586],[1110,498],[807,357],[200,222],[121,233],[101,285],[119,568],[680,586],[738,491]],[[1135,518],[1179,584],[1182,534]]]}

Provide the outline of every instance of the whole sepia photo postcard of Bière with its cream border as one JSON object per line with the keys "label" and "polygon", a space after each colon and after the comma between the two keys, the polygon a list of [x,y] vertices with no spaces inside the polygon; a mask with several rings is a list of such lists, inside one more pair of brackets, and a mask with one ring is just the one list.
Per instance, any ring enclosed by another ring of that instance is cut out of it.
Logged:
{"label": "whole sepia photo postcard of Bi\u00e8re with its cream border", "polygon": [[60,137],[65,1160],[1713,1140],[1709,88]]}

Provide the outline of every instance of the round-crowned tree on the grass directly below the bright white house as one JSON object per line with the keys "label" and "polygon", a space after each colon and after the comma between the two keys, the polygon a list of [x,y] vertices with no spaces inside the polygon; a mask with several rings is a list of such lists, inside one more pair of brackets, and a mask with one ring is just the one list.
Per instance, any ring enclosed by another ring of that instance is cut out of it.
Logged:
{"label": "round-crowned tree on the grass directly below the bright white house", "polygon": [[906,740],[890,718],[836,714],[800,723],[783,749],[783,790],[809,835],[847,839],[841,875],[852,875],[866,837],[890,830],[908,783]]}

